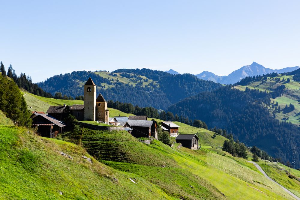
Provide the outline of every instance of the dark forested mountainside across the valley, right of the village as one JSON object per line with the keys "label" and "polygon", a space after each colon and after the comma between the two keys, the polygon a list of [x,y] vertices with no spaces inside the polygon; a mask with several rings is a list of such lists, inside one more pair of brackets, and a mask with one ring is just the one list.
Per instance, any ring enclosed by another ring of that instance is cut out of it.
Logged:
{"label": "dark forested mountainside across the valley, right of the village", "polygon": [[299,154],[293,154],[291,149],[294,145],[300,147],[300,128],[270,116],[263,105],[270,101],[271,95],[266,91],[240,91],[224,86],[188,97],[167,111],[200,119],[208,127],[226,129],[246,145],[256,145],[285,162],[294,162],[294,167],[299,168]]}

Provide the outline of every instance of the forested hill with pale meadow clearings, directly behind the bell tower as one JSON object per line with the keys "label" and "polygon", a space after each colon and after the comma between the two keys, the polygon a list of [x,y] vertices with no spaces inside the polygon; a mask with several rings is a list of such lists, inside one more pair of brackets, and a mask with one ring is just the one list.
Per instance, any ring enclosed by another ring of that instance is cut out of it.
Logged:
{"label": "forested hill with pale meadow clearings, directly behind the bell tower", "polygon": [[89,76],[97,85],[97,92],[101,92],[107,100],[157,109],[166,109],[185,97],[221,86],[191,74],[172,75],[149,69],[120,69],[111,73],[76,71],[53,76],[38,85],[52,95],[59,92],[75,98],[83,95],[82,86]]}

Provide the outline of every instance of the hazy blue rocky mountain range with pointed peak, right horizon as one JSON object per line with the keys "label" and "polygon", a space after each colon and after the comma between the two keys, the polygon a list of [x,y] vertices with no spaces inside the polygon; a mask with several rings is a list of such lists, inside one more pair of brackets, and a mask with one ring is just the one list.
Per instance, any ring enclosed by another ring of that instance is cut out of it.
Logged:
{"label": "hazy blue rocky mountain range with pointed peak, right horizon", "polygon": [[253,62],[250,65],[245,65],[239,68],[238,70],[233,71],[228,76],[218,76],[208,71],[203,71],[202,73],[196,74],[195,76],[197,76],[199,79],[210,80],[221,84],[233,84],[247,76],[258,76],[258,75],[263,75],[272,72],[284,73],[284,72],[297,70],[299,68],[300,68],[299,66],[295,66],[295,67],[285,67],[278,70],[272,70],[270,68],[265,68],[261,64]]}

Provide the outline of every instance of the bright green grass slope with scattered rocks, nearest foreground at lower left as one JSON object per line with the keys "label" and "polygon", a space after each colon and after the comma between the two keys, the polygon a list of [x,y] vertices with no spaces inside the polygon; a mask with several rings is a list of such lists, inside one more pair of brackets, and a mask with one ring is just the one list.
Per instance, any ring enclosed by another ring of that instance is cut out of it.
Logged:
{"label": "bright green grass slope with scattered rocks, nearest foreground at lower left", "polygon": [[170,199],[145,179],[107,167],[72,143],[13,126],[0,126],[0,133],[0,199]]}

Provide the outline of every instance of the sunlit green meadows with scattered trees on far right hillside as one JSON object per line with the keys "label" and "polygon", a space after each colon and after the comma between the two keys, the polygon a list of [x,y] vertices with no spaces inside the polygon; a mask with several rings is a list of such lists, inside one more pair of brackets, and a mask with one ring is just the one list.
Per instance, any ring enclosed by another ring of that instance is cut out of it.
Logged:
{"label": "sunlit green meadows with scattered trees on far right hillside", "polygon": [[[280,81],[276,80],[276,78],[280,78]],[[286,81],[288,78],[290,79],[290,82]],[[286,89],[284,89],[282,96],[271,99],[271,107],[269,107],[270,112],[272,113],[275,111],[275,108],[272,108],[273,101],[275,103],[278,102],[281,112],[276,112],[276,118],[280,121],[286,120],[287,122],[300,125],[300,117],[298,116],[300,113],[300,82],[293,81],[293,76],[284,76],[279,74],[278,76],[274,77],[274,79],[271,78],[264,80],[263,83],[261,80],[252,81],[247,85],[236,85],[234,88],[244,91],[245,88],[248,87],[250,89],[259,89],[271,92],[280,85],[285,85]],[[289,106],[290,103],[295,106],[295,110],[284,109],[285,105]]]}

